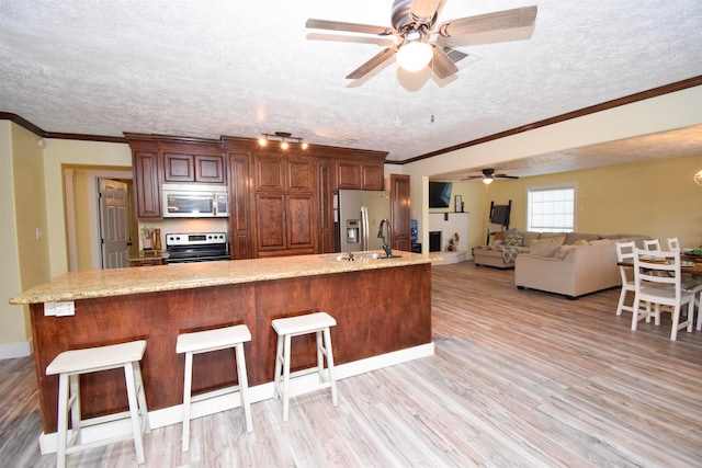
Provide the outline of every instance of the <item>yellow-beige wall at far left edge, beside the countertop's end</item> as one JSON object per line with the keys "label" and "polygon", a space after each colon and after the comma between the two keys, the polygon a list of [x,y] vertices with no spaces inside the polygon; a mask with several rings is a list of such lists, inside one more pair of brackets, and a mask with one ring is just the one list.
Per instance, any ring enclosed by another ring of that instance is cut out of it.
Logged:
{"label": "yellow-beige wall at far left edge, beside the countertop's end", "polygon": [[[10,306],[8,299],[49,279],[46,262],[46,210],[39,138],[24,128],[0,121],[0,242],[11,246],[0,266],[0,356],[30,351],[29,308]],[[42,236],[37,236],[37,229]]]}

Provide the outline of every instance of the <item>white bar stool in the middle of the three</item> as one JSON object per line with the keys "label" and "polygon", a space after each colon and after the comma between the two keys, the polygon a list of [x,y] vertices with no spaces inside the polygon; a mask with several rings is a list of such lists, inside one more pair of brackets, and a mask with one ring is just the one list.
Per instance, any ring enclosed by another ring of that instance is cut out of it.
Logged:
{"label": "white bar stool in the middle of the three", "polygon": [[[190,404],[227,393],[239,392],[247,432],[253,432],[251,423],[251,406],[249,402],[249,381],[246,374],[244,343],[251,341],[251,332],[247,326],[226,327],[215,330],[182,333],[178,335],[176,352],[185,353],[185,380],[183,383],[183,452],[190,449]],[[193,354],[234,347],[236,351],[238,385],[207,393],[192,396]]]}

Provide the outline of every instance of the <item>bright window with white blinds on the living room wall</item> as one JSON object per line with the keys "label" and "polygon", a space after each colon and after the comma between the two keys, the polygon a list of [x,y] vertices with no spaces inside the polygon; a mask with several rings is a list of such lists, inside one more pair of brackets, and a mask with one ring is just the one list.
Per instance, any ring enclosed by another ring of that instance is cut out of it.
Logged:
{"label": "bright window with white blinds on the living room wall", "polygon": [[528,230],[575,230],[575,185],[526,189],[526,207]]}

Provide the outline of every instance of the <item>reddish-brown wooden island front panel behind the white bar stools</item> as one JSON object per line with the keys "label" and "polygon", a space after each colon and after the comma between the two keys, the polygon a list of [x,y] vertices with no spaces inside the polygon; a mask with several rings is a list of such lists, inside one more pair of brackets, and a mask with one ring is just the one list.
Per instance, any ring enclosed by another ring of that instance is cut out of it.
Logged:
{"label": "reddish-brown wooden island front panel behind the white bar stools", "polygon": [[[168,269],[168,266],[163,266]],[[76,315],[46,317],[32,304],[34,356],[44,433],[56,431],[57,376],[46,376],[60,352],[145,339],[141,361],[149,411],[182,403],[184,357],[176,353],[179,333],[245,323],[249,385],[272,381],[276,335],[271,320],[326,310],[336,364],[344,364],[431,342],[431,264],[362,270],[327,275],[226,284],[155,293],[77,299]],[[316,363],[314,341],[293,345],[294,367]],[[193,390],[236,383],[234,352],[196,355]],[[127,408],[124,375],[106,370],[81,377],[86,418]]]}

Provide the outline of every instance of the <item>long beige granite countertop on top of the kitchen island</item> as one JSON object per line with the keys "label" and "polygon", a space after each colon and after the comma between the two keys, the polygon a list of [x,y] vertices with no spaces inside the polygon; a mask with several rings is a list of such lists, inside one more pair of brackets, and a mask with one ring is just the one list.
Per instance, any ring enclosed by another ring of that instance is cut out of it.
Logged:
{"label": "long beige granite countertop on top of the kitchen island", "polygon": [[[299,276],[431,263],[438,258],[396,251],[394,259],[327,260],[337,254],[278,256],[222,262],[179,263],[148,269],[93,270],[66,273],[10,298],[10,304],[41,304],[127,294],[156,293]],[[325,259],[327,258],[327,259]],[[439,259],[440,260],[440,259]]]}

